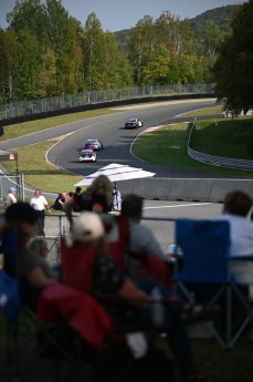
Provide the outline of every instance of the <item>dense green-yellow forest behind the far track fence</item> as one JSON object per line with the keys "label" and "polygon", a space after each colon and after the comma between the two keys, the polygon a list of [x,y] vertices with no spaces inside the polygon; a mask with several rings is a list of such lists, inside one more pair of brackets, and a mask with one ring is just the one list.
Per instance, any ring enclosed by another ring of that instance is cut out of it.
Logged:
{"label": "dense green-yellow forest behind the far track fence", "polygon": [[145,14],[130,30],[84,25],[61,0],[17,1],[0,29],[0,103],[133,85],[213,82],[217,49],[236,7],[180,20]]}

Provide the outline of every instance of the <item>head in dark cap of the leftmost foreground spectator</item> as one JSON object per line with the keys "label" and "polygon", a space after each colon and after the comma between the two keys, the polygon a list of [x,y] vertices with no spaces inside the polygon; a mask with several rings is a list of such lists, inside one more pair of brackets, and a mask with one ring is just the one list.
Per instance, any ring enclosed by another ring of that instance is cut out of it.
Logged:
{"label": "head in dark cap of the leftmost foreground spectator", "polygon": [[29,203],[18,202],[7,208],[6,223],[18,230],[21,241],[35,235],[39,214]]}

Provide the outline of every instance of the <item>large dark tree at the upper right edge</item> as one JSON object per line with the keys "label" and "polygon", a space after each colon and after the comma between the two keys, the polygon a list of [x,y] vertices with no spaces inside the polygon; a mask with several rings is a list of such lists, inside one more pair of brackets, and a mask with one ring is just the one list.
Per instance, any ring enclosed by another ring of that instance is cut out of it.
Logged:
{"label": "large dark tree at the upper right edge", "polygon": [[253,107],[253,0],[238,6],[232,33],[219,48],[212,68],[218,100],[239,115]]}

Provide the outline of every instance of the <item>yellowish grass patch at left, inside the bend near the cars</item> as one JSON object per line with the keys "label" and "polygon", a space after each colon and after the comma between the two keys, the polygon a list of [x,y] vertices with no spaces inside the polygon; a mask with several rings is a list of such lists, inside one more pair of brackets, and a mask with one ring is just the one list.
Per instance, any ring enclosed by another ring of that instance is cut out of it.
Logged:
{"label": "yellowish grass patch at left, inside the bend near the cars", "polygon": [[[45,152],[52,144],[52,141],[45,141],[18,149],[19,172],[24,174],[25,184],[31,187],[52,193],[73,190],[74,184],[82,180],[83,177],[64,172],[45,162]],[[3,166],[10,173],[15,172],[13,162],[3,162]]]}

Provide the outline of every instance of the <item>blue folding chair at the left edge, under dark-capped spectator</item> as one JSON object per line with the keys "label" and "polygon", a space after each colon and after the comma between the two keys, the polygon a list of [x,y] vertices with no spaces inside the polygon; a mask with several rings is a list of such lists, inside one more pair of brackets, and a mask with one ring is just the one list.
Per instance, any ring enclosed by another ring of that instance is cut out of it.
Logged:
{"label": "blue folding chair at the left edge, under dark-capped spectator", "polygon": [[[62,333],[70,331],[70,327],[63,319],[55,322],[43,322],[36,311],[31,309],[23,300],[24,282],[19,278],[18,236],[14,230],[2,237],[2,252],[4,258],[4,271],[0,273],[0,295],[7,316],[7,355],[11,363],[11,373],[14,375],[29,374],[36,357],[50,358],[55,361],[55,381],[60,381],[60,360],[71,366],[77,351],[74,335],[63,341]],[[11,276],[10,276],[11,275]],[[4,281],[4,282],[3,282]],[[6,289],[2,286],[4,283]],[[10,288],[11,287],[11,288]],[[3,290],[3,291],[2,291]],[[36,292],[36,290],[34,290]],[[31,286],[28,293],[31,292]],[[29,295],[30,296],[30,295]],[[23,327],[29,335],[23,333]],[[50,349],[50,354],[48,357]],[[73,368],[72,368],[73,369]],[[68,374],[67,374],[68,378]],[[65,379],[64,379],[65,381]]]}

